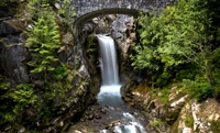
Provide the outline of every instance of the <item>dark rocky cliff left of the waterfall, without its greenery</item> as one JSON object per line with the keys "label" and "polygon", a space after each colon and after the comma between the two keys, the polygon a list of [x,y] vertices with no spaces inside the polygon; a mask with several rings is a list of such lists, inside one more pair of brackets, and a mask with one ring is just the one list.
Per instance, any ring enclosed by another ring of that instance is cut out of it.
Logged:
{"label": "dark rocky cliff left of the waterfall, without its greenery", "polygon": [[[22,4],[26,3],[23,2]],[[18,9],[18,11],[20,10]],[[1,126],[0,132],[29,132],[30,126],[32,126],[31,130],[37,129],[38,132],[61,132],[68,126],[72,120],[96,101],[100,87],[97,68],[90,69],[91,67],[86,62],[86,55],[82,53],[84,47],[75,44],[73,34],[63,33],[63,44],[57,51],[57,56],[62,63],[68,64],[77,75],[73,76],[73,74],[67,77],[68,80],[72,80],[73,88],[65,92],[62,98],[58,97],[61,93],[56,93],[57,97],[54,97],[48,104],[45,91],[42,89],[44,82],[35,80],[26,65],[31,59],[31,52],[24,45],[28,38],[24,31],[32,22],[29,18],[25,18],[26,15],[22,15],[25,12],[13,13],[12,11],[10,8],[0,9],[0,76],[11,85],[9,90],[2,90],[4,88],[0,88],[0,90],[1,92],[10,92],[14,91],[18,85],[31,84],[38,99],[37,108],[25,108],[25,110],[16,113],[15,117],[22,121],[21,123],[14,125],[13,122],[8,122]],[[0,81],[2,80],[0,79]],[[8,98],[8,96],[4,98]],[[8,104],[8,109],[14,108],[14,102],[11,99],[0,99],[0,101]],[[52,110],[56,115],[47,115],[46,119],[41,118],[46,109]],[[41,110],[44,110],[44,112],[41,112]],[[2,112],[2,108],[0,108],[0,111]],[[24,124],[25,122],[29,124]]]}

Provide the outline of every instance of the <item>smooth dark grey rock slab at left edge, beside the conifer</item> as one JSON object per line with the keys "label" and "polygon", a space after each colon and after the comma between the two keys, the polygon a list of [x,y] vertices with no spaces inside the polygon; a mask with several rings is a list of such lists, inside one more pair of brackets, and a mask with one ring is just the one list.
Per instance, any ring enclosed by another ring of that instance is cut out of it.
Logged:
{"label": "smooth dark grey rock slab at left edge, beside the conifer", "polygon": [[[10,43],[10,42],[9,42]],[[18,84],[29,82],[26,62],[30,58],[28,49],[22,43],[7,44],[1,49],[1,69],[4,75]]]}

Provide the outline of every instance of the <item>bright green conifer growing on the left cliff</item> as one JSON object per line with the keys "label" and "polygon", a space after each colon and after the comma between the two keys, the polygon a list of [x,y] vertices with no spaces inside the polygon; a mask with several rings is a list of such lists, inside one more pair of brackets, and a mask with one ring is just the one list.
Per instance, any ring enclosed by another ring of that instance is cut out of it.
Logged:
{"label": "bright green conifer growing on the left cliff", "polygon": [[56,49],[59,47],[61,36],[52,9],[48,7],[43,10],[42,15],[34,22],[34,27],[28,32],[26,46],[33,56],[29,62],[31,73],[44,75],[46,80],[48,71],[55,70],[58,60]]}

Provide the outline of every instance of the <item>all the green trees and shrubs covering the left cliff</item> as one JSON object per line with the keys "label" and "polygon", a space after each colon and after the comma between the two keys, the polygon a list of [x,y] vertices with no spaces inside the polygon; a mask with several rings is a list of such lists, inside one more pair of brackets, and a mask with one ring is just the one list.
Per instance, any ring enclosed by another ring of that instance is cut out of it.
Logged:
{"label": "all the green trees and shrubs covering the left cliff", "polygon": [[[62,1],[62,11],[55,9],[56,1],[26,1],[31,20],[29,21],[33,22],[25,32],[29,36],[25,46],[31,52],[31,58],[28,62],[31,80],[25,84],[12,81],[11,85],[7,77],[0,76],[0,102],[3,103],[0,106],[1,126],[11,123],[18,126],[29,124],[28,126],[32,126],[32,129],[31,131],[26,129],[26,132],[33,132],[35,121],[41,120],[45,124],[51,124],[50,121],[53,117],[64,113],[65,109],[72,106],[73,100],[66,98],[68,91],[74,87],[78,90],[80,86],[87,84],[85,84],[84,77],[73,69],[73,65],[61,62],[58,58],[57,52],[63,43],[61,36],[69,32],[61,26],[68,23],[70,27],[75,12],[70,7],[70,0]],[[13,2],[16,0],[3,0],[0,2],[0,7]],[[59,22],[58,15],[62,15],[64,22]],[[81,85],[73,86],[76,80]],[[55,102],[63,104],[57,106]],[[13,124],[10,130],[15,132]]]}

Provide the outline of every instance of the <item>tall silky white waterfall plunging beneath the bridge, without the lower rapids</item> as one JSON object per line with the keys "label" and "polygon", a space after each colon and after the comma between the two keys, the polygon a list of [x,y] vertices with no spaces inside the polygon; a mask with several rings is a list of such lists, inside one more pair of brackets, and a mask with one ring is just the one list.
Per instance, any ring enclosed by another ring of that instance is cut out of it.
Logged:
{"label": "tall silky white waterfall plunging beneath the bridge, without the lower rapids", "polygon": [[99,103],[111,107],[122,106],[119,84],[119,70],[114,41],[110,36],[97,35],[100,48],[100,68],[102,86],[98,95]]}

